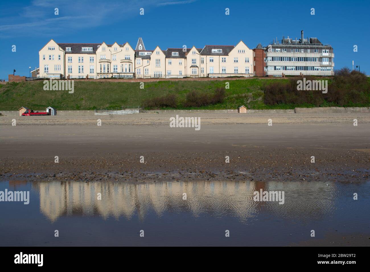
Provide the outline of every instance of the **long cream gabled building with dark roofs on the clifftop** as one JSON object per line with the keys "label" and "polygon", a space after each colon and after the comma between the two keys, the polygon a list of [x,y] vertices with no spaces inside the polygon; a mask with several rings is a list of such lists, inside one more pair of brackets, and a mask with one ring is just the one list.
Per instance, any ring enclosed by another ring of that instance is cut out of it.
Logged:
{"label": "long cream gabled building with dark roofs on the clifftop", "polygon": [[142,38],[129,43],[56,43],[40,51],[41,78],[182,78],[253,75],[252,50],[236,46],[146,50]]}

